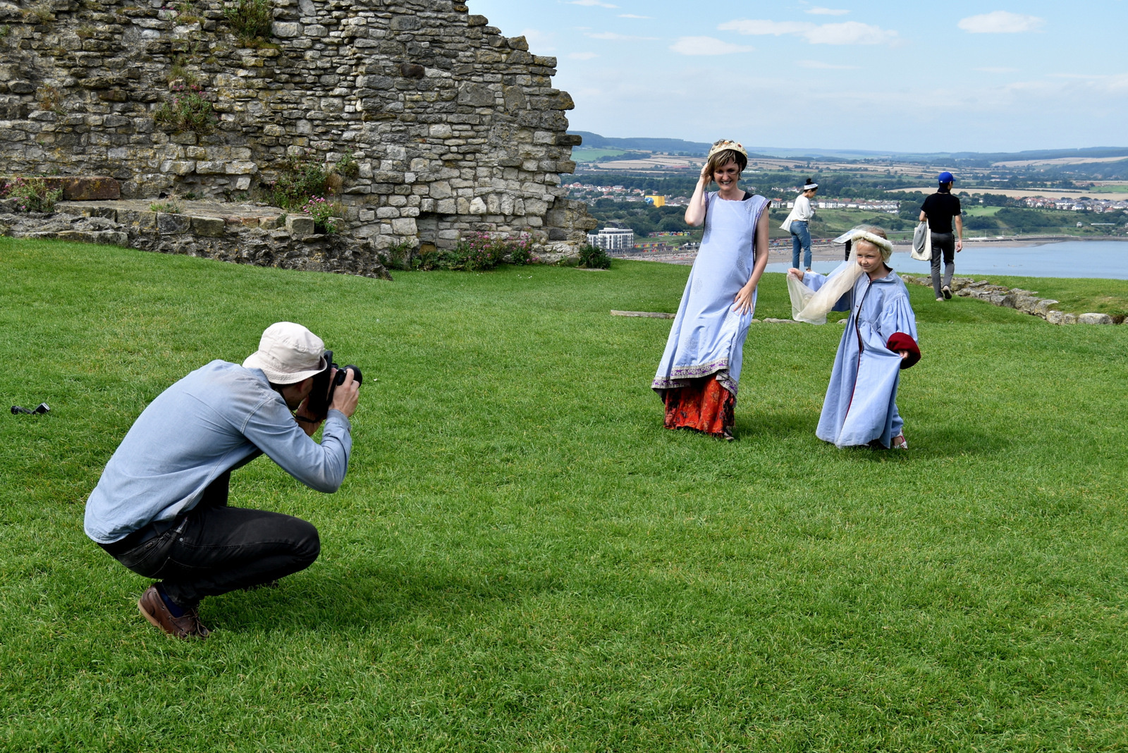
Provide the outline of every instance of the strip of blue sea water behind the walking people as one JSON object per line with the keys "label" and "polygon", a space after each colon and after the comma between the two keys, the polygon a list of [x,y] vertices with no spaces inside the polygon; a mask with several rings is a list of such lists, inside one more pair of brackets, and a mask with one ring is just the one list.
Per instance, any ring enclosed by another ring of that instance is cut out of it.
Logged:
{"label": "strip of blue sea water behind the walking people", "polygon": [[[823,274],[838,262],[814,262]],[[929,262],[895,253],[889,262],[897,272],[928,275]],[[787,272],[790,263],[768,264],[768,272]],[[941,272],[943,272],[941,262]],[[1119,240],[1065,240],[1032,246],[969,243],[955,255],[957,276],[1013,275],[1015,277],[1105,277],[1128,280],[1128,242]]]}

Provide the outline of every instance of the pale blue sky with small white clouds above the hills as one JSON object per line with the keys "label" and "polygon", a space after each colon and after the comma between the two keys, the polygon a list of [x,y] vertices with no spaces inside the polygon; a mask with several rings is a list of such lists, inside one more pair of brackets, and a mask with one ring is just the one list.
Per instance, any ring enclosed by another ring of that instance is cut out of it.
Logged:
{"label": "pale blue sky with small white clouds above the hills", "polygon": [[1128,0],[468,0],[556,55],[573,130],[754,147],[1128,147]]}

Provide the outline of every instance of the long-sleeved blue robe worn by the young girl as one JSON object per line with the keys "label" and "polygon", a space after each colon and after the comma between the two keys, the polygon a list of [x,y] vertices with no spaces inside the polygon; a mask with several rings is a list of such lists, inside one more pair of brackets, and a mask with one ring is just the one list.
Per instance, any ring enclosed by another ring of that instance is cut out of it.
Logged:
{"label": "long-sleeved blue robe worn by the young girl", "polygon": [[[819,290],[827,278],[808,272],[803,284]],[[869,444],[873,440],[888,448],[905,424],[897,411],[902,361],[899,353],[888,347],[889,338],[901,333],[911,337],[914,344],[917,339],[908,290],[896,272],[874,281],[863,274],[834,310],[851,315],[838,344],[814,433],[839,448]]]}

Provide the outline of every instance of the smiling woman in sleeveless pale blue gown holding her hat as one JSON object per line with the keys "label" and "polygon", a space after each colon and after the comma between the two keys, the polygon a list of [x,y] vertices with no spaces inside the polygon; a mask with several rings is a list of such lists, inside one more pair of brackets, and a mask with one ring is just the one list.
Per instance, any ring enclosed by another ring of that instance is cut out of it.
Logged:
{"label": "smiling woman in sleeveless pale blue gown holding her hat", "polygon": [[[738,186],[748,152],[713,144],[686,222],[705,223],[666,352],[651,384],[666,404],[667,428],[694,428],[732,440],[744,338],[756,286],[768,262],[768,201]],[[719,191],[708,192],[716,181]]]}

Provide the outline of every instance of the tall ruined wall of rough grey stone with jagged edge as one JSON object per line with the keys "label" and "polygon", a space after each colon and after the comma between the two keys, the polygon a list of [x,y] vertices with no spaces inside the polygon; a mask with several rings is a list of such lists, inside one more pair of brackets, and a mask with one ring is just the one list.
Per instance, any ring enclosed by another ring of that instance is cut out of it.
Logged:
{"label": "tall ruined wall of rough grey stone with jagged edge", "polygon": [[[467,232],[528,232],[549,254],[585,241],[596,223],[559,186],[580,139],[555,57],[451,0],[274,0],[257,48],[224,5],[0,0],[0,175],[231,201],[262,196],[288,157],[349,151],[360,174],[336,198],[374,249]],[[153,122],[182,69],[213,101],[209,134]]]}

